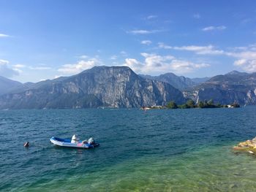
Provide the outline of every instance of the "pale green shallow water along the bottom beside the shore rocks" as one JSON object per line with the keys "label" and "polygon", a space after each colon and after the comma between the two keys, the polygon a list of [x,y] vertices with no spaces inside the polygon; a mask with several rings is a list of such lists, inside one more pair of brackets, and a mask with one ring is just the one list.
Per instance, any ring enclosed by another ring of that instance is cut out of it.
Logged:
{"label": "pale green shallow water along the bottom beside the shore rocks", "polygon": [[39,181],[24,191],[255,191],[255,177],[255,156],[234,153],[228,145],[176,158],[124,161],[99,172]]}

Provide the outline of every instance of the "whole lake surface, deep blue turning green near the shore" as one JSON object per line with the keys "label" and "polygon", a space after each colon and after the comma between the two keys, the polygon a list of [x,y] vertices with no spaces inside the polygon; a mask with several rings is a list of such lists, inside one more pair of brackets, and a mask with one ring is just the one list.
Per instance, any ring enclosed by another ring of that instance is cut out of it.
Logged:
{"label": "whole lake surface, deep blue turning green near the shore", "polygon": [[[232,150],[256,136],[255,112],[0,111],[0,191],[256,191],[256,157]],[[100,146],[49,141],[72,134]]]}

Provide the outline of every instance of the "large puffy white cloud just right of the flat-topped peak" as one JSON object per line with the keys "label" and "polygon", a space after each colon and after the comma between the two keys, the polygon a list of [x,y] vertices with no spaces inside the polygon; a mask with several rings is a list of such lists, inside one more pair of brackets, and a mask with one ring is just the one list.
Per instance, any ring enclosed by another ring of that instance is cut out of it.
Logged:
{"label": "large puffy white cloud just right of the flat-topped peak", "polygon": [[184,74],[210,66],[209,64],[195,64],[190,61],[179,60],[174,58],[173,55],[162,56],[149,53],[141,53],[141,55],[144,57],[143,62],[135,58],[127,58],[124,65],[129,66],[135,72],[143,74],[162,74],[170,71]]}

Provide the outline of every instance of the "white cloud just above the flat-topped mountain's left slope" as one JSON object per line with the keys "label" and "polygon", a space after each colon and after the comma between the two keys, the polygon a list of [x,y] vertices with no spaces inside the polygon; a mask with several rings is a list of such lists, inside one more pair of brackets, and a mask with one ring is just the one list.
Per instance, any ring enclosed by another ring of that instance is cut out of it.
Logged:
{"label": "white cloud just above the flat-topped mountain's left slope", "polygon": [[58,72],[64,74],[78,74],[86,69],[91,69],[93,66],[97,66],[101,62],[97,58],[91,58],[87,61],[81,60],[77,64],[65,64],[58,69]]}

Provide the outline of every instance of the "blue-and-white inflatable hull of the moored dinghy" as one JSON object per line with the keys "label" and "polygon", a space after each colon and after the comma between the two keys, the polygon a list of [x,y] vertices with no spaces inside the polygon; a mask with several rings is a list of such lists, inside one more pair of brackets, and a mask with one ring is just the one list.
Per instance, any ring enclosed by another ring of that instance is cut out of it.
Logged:
{"label": "blue-and-white inflatable hull of the moored dinghy", "polygon": [[76,148],[85,148],[90,149],[94,147],[98,147],[99,143],[83,143],[82,141],[79,141],[78,143],[72,143],[71,139],[61,139],[58,137],[51,137],[50,142],[52,142],[54,145],[58,145],[61,147],[76,147]]}

